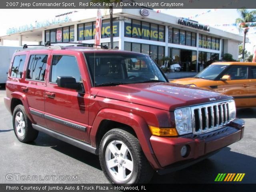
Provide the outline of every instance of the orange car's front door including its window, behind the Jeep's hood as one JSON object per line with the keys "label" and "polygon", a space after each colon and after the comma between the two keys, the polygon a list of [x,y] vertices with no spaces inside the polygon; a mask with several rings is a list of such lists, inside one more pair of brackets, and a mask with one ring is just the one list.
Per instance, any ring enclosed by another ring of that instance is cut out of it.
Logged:
{"label": "orange car's front door including its window, behind the Jeep's hood", "polygon": [[237,107],[249,106],[249,84],[248,66],[231,65],[224,75],[229,75],[231,80],[218,81],[216,91],[233,96]]}

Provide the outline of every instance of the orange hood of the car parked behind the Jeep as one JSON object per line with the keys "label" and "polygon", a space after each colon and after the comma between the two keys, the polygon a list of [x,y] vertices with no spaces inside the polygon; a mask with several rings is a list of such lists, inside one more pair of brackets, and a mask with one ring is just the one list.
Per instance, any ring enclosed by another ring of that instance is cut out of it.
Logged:
{"label": "orange hood of the car parked behind the Jeep", "polygon": [[194,84],[198,87],[205,87],[205,88],[207,88],[209,86],[216,86],[218,84],[217,81],[201,79],[201,78],[182,78],[182,79],[172,80],[170,82],[182,84],[182,85]]}

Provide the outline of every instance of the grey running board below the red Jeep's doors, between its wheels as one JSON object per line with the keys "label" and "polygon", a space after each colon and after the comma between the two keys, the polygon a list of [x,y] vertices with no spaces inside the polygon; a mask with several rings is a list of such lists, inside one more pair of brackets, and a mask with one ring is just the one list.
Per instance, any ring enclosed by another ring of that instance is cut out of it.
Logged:
{"label": "grey running board below the red Jeep's doors, between its wheels", "polygon": [[84,142],[78,141],[76,139],[73,139],[73,138],[68,137],[66,135],[63,135],[63,134],[60,134],[58,132],[52,131],[50,129],[44,128],[44,127],[42,127],[40,125],[32,124],[32,127],[34,129],[38,130],[38,131],[41,131],[41,132],[44,132],[45,134],[50,135],[50,136],[52,136],[52,137],[54,137],[56,139],[62,140],[64,142],[67,142],[67,143],[69,143],[71,145],[74,145],[74,146],[76,146],[78,148],[81,148],[81,149],[86,150],[88,152],[91,152],[93,154],[97,154],[96,148],[92,147],[89,144],[86,144]]}

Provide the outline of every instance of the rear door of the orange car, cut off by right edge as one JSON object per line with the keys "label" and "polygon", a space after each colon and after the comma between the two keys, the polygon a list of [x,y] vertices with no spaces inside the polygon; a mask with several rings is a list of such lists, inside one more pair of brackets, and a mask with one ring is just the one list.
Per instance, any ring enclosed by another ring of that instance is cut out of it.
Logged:
{"label": "rear door of the orange car, cut off by right edge", "polygon": [[249,66],[250,106],[256,106],[256,66]]}

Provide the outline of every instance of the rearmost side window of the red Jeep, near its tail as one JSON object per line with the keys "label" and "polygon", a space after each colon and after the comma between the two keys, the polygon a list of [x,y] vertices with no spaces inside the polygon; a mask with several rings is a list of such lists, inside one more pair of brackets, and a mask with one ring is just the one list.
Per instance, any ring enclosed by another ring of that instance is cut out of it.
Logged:
{"label": "rearmost side window of the red Jeep, near its tail", "polygon": [[14,61],[12,64],[11,77],[22,78],[25,60],[26,60],[26,55],[17,55],[14,57]]}

